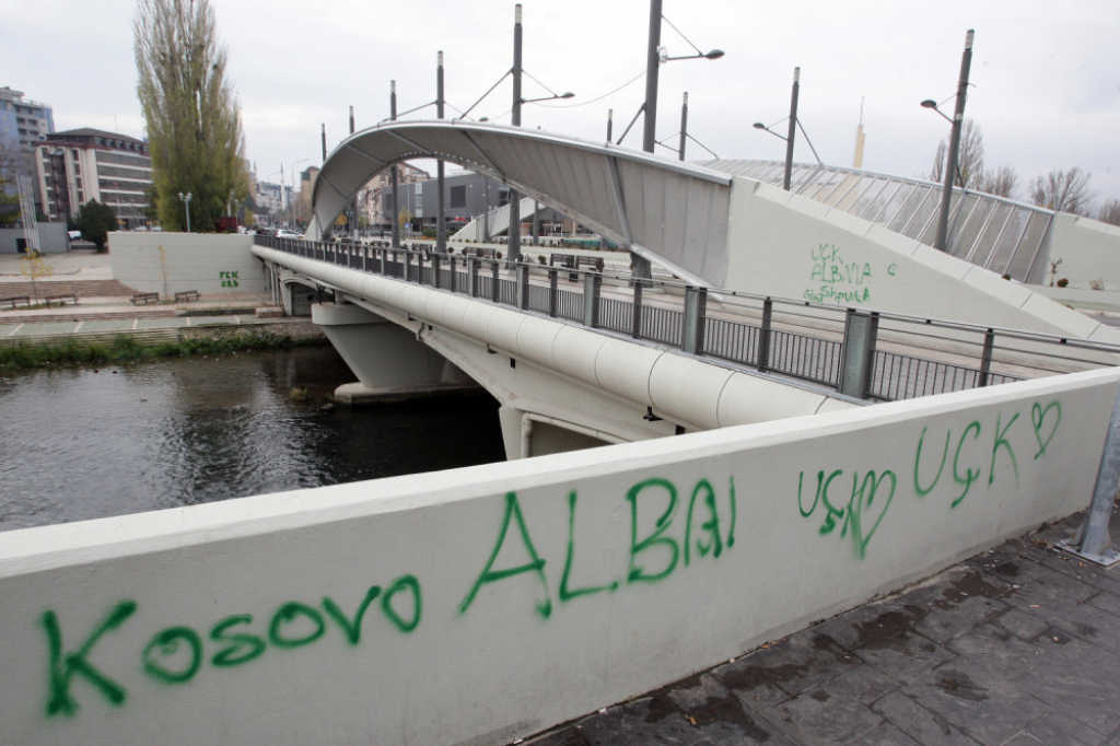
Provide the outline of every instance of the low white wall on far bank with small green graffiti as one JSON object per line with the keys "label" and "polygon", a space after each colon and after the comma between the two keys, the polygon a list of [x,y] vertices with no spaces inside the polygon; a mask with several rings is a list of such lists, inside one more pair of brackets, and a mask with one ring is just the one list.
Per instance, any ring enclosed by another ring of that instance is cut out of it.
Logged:
{"label": "low white wall on far bank with small green graffiti", "polygon": [[174,298],[181,290],[211,295],[265,292],[253,236],[236,233],[110,233],[113,278],[141,292]]}

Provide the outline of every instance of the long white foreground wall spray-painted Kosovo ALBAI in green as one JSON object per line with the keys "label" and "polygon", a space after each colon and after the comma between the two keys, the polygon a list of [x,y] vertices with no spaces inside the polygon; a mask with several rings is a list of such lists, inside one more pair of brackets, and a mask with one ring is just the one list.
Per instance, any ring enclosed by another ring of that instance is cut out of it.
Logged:
{"label": "long white foreground wall spray-painted Kosovo ALBAI in green", "polygon": [[1118,380],[2,532],[0,742],[506,743],[1084,507]]}

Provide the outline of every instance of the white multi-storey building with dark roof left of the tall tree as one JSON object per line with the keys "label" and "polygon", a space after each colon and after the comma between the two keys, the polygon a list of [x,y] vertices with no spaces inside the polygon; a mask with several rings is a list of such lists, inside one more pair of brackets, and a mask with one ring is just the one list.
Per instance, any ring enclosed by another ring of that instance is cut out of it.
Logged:
{"label": "white multi-storey building with dark roof left of the tall tree", "polygon": [[148,143],[102,130],[67,130],[36,146],[36,171],[43,212],[65,221],[96,199],[113,208],[121,227],[147,225],[151,184]]}

